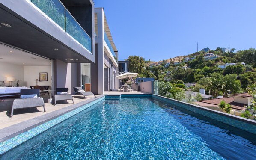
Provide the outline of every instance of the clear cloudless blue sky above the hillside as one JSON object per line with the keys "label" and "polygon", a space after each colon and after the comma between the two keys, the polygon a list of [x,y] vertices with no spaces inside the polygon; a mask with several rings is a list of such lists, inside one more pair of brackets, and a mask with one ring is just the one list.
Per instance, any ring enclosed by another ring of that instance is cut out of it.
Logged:
{"label": "clear cloudless blue sky above the hillside", "polygon": [[94,0],[119,60],[159,61],[209,47],[256,48],[256,0]]}

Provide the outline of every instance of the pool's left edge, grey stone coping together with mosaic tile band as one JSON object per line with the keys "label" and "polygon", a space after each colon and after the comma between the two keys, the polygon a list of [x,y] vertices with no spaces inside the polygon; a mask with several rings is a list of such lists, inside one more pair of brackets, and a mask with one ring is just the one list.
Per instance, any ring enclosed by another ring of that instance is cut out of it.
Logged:
{"label": "pool's left edge, grey stone coping together with mosaic tile band", "polygon": [[[34,124],[25,125],[24,128],[19,128],[14,131],[14,133],[8,134],[10,129],[14,126],[19,126],[19,124],[15,124],[10,127],[6,127],[0,130],[0,155],[9,151],[10,149],[20,145],[21,143],[27,141],[28,139],[33,138],[34,136],[48,130],[49,128],[57,125],[58,123],[64,121],[65,119],[74,116],[75,114],[85,110],[86,108],[96,104],[97,102],[103,100],[105,95],[100,95],[97,98],[93,98],[92,100],[88,100],[85,102],[79,102],[77,104],[73,104],[71,106],[65,107],[63,109],[48,113],[48,115],[42,115],[39,117],[35,117],[33,119],[21,122],[26,124],[28,121],[34,121],[36,119],[43,119],[43,121],[36,122]],[[61,112],[63,111],[63,112]],[[56,114],[58,113],[59,114]],[[53,116],[55,114],[55,116]],[[22,126],[21,126],[22,127]],[[1,134],[5,133],[5,134]],[[7,133],[7,134],[6,134]]]}

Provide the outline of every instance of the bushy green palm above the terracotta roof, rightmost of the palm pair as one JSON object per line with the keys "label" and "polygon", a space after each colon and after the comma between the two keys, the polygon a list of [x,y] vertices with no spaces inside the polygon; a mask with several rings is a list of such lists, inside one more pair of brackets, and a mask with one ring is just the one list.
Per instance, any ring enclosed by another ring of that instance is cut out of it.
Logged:
{"label": "bushy green palm above the terracotta roof, rightmost of the palm pair", "polygon": [[224,97],[227,97],[227,91],[236,93],[240,90],[240,81],[236,79],[236,74],[229,74],[223,78],[222,89],[224,91]]}

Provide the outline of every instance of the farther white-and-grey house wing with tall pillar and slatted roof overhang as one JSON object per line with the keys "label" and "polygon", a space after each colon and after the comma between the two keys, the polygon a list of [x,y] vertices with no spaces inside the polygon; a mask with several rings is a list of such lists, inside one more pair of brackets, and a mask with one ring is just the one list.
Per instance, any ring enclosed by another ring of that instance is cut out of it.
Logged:
{"label": "farther white-and-grey house wing with tall pillar and slatted roof overhang", "polygon": [[95,8],[95,63],[91,64],[92,92],[118,89],[118,51],[103,8]]}

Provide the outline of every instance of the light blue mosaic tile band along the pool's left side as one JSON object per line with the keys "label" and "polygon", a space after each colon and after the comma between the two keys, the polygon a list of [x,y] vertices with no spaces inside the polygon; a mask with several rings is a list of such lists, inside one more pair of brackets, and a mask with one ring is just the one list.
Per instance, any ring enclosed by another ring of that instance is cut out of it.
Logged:
{"label": "light blue mosaic tile band along the pool's left side", "polygon": [[48,130],[49,128],[53,127],[56,124],[59,124],[60,122],[70,118],[71,116],[74,116],[75,114],[81,112],[82,110],[85,110],[86,108],[92,106],[93,104],[98,103],[99,101],[103,100],[105,97],[101,97],[95,101],[92,101],[88,104],[85,104],[75,110],[72,110],[68,113],[63,114],[62,116],[57,117],[56,119],[52,119],[51,121],[48,121],[44,124],[41,124],[37,127],[34,127],[30,130],[27,130],[24,133],[19,134],[18,136],[15,136],[11,139],[8,139],[4,142],[0,143],[0,155],[3,154],[6,151],[9,151],[10,149],[16,147],[17,145],[20,145],[21,143],[27,141],[28,139],[33,138],[34,136],[44,132],[45,130]]}

